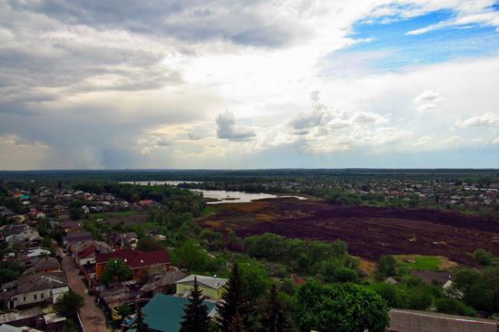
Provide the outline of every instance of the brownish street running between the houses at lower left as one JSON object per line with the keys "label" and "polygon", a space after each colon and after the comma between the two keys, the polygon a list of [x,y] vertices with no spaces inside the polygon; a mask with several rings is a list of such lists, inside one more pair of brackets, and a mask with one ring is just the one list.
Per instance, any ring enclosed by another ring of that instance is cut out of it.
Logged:
{"label": "brownish street running between the houses at lower left", "polygon": [[83,296],[85,300],[85,304],[80,309],[80,318],[85,332],[107,331],[103,310],[95,306],[93,297],[85,294],[85,284],[78,275],[79,270],[76,269],[76,264],[71,257],[63,256],[63,269],[66,272],[69,288]]}

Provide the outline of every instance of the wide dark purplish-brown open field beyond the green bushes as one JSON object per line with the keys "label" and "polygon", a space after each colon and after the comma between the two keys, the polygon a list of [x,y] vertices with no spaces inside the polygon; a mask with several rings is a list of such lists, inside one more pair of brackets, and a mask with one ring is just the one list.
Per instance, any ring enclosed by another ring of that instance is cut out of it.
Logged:
{"label": "wide dark purplish-brown open field beyond the green bushes", "polygon": [[338,207],[296,199],[220,204],[218,209],[198,222],[240,236],[273,232],[289,238],[344,239],[349,251],[363,259],[420,254],[473,264],[477,248],[499,254],[499,224],[443,211]]}

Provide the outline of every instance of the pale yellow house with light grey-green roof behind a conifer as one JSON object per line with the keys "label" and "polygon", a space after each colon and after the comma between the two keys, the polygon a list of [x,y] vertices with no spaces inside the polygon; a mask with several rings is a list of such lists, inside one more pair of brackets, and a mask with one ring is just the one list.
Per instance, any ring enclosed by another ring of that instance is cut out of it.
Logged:
{"label": "pale yellow house with light grey-green roof behind a conifer", "polygon": [[219,300],[225,292],[225,286],[228,279],[215,277],[206,277],[191,274],[175,282],[177,290],[175,294],[180,297],[187,297],[191,294],[191,288],[194,284],[194,278],[198,280],[198,286],[202,290],[202,295],[207,298]]}

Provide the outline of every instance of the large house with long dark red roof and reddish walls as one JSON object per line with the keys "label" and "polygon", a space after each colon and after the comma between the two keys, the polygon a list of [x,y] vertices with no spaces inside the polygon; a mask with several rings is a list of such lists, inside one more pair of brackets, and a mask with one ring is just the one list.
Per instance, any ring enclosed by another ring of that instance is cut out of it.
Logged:
{"label": "large house with long dark red roof and reddish walls", "polygon": [[142,272],[147,269],[170,269],[170,255],[166,250],[141,251],[135,249],[122,249],[107,254],[96,256],[95,278],[99,280],[103,275],[103,269],[111,259],[122,259],[133,272],[133,279],[142,278]]}

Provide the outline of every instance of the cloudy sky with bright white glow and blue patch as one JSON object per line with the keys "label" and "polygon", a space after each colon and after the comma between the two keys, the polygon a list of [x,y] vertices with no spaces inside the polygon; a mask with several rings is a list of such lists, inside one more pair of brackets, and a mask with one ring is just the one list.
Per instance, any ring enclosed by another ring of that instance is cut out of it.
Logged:
{"label": "cloudy sky with bright white glow and blue patch", "polygon": [[0,170],[499,168],[499,2],[0,0]]}

